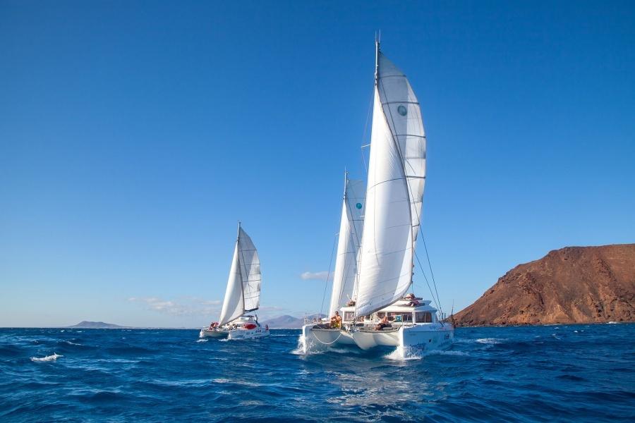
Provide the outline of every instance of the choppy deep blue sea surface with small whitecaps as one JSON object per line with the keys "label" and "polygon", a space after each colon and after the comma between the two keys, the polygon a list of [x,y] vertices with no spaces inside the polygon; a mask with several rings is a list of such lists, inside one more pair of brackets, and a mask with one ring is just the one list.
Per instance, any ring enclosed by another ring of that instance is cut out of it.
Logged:
{"label": "choppy deep blue sea surface with small whitecaps", "polygon": [[635,324],[457,329],[405,358],[299,334],[0,329],[0,421],[635,422]]}

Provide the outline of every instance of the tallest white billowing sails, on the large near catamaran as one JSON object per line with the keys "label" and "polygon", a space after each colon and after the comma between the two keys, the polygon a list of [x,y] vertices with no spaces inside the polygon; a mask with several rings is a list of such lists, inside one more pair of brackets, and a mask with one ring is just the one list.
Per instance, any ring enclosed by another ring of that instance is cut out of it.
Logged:
{"label": "tallest white billowing sails, on the large near catamaran", "polygon": [[392,304],[412,282],[424,183],[425,133],[417,97],[377,44],[358,316]]}

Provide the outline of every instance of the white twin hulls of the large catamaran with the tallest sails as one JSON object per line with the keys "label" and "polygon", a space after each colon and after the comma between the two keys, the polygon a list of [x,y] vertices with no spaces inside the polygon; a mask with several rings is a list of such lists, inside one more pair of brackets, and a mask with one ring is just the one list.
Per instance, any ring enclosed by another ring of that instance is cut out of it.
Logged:
{"label": "white twin hulls of the large catamaran with the tallest sails", "polygon": [[357,345],[362,350],[379,346],[416,348],[418,350],[445,350],[454,340],[451,324],[416,324],[401,326],[393,331],[317,329],[313,324],[302,326],[303,353],[324,351],[337,345]]}

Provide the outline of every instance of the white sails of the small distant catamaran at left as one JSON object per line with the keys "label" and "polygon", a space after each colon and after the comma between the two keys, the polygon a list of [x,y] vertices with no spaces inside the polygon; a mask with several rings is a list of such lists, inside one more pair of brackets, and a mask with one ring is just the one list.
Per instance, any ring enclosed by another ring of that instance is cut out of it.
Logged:
{"label": "white sails of the small distant catamaran at left", "polygon": [[219,318],[219,325],[253,312],[260,305],[260,259],[251,238],[238,224],[238,239],[231,260],[229,280]]}

